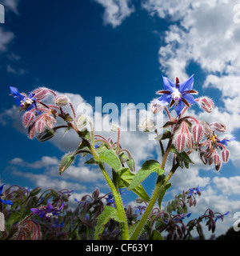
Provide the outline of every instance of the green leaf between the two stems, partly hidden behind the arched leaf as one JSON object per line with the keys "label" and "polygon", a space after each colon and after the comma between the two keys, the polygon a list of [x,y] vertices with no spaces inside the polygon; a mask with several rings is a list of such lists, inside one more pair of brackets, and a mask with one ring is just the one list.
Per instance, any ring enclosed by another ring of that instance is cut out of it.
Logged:
{"label": "green leaf between the two stems, partly hidden behind the arched leaf", "polygon": [[[132,173],[129,168],[124,167],[117,172],[118,174],[118,188],[125,188],[130,186],[130,183],[132,182],[133,178],[135,177],[135,174]],[[144,190],[143,186],[139,184],[138,186],[134,187],[132,190],[135,194],[138,195],[139,198],[142,198],[144,201],[149,202],[150,197]]]}

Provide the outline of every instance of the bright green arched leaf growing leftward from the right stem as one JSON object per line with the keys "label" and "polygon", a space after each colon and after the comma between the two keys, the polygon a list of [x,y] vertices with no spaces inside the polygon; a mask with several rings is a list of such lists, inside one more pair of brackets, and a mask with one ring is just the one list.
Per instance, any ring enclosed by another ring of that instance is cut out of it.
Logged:
{"label": "bright green arched leaf growing leftward from the right stem", "polygon": [[135,175],[132,182],[130,183],[128,190],[133,190],[153,172],[156,172],[159,176],[164,174],[164,170],[162,170],[161,165],[158,161],[147,160],[142,165],[142,168],[138,170],[138,173]]}

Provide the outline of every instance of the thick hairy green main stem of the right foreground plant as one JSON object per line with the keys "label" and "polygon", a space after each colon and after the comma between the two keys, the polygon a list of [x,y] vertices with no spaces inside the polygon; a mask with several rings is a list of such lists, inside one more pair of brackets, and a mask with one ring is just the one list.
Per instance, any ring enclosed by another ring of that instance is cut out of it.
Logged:
{"label": "thick hairy green main stem of the right foreground plant", "polygon": [[[168,142],[168,145],[166,147],[166,152],[162,157],[162,165],[161,165],[162,170],[164,170],[164,168],[165,168],[166,159],[168,157],[168,154],[170,153],[171,143],[172,143],[172,140],[170,139],[170,141]],[[150,202],[148,203],[148,206],[146,207],[146,210],[145,210],[144,214],[142,215],[140,222],[138,222],[138,226],[136,227],[136,229],[134,230],[134,233],[130,237],[130,240],[136,240],[138,238],[139,234],[141,234],[142,228],[146,224],[146,221],[150,215],[150,212],[153,209],[155,202],[158,200],[159,194],[161,193],[162,189],[166,186],[166,183],[173,176],[173,174],[177,168],[178,168],[178,165],[173,166],[173,168],[170,170],[170,173],[163,180],[162,180],[161,176],[158,176],[156,186],[154,189],[154,193],[153,193],[152,197],[150,198]]]}

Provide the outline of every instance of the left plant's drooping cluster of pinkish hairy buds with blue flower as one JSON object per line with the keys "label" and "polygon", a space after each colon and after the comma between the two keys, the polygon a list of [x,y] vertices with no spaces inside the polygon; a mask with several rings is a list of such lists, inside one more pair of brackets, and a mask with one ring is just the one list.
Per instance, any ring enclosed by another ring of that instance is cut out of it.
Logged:
{"label": "left plant's drooping cluster of pinkish hairy buds with blue flower", "polygon": [[[68,104],[72,107],[66,95],[57,95],[53,90],[45,87],[38,88],[26,95],[20,94],[17,88],[10,86],[10,92],[14,96],[16,104],[20,106],[19,111],[25,110],[22,122],[23,126],[28,128],[29,138],[34,138],[38,133],[38,140],[43,142],[52,138],[58,128],[67,128],[68,126],[54,127],[58,116],[66,122],[74,121],[70,114],[66,114],[62,110],[62,106]],[[42,102],[42,99],[46,98],[48,94],[54,95],[53,104]]]}

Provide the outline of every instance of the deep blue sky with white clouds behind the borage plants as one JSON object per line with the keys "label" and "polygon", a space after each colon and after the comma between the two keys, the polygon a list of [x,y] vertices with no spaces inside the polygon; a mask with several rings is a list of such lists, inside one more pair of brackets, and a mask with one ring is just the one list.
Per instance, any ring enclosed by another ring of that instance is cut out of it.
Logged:
{"label": "deep blue sky with white clouds behind the borage plants", "polygon": [[[2,134],[0,183],[34,188],[76,190],[74,197],[108,188],[93,166],[78,158],[70,170],[58,176],[62,155],[74,150],[76,138],[58,134],[50,142],[30,140],[21,114],[9,96],[9,86],[29,92],[46,86],[66,94],[78,106],[113,102],[149,103],[162,89],[162,74],[180,82],[194,74],[199,96],[213,98],[211,114],[194,106],[207,122],[226,124],[226,136],[239,137],[240,23],[234,22],[237,1],[168,2],[160,0],[0,1],[5,23],[0,24],[0,129]],[[123,118],[126,111],[119,113]],[[110,134],[115,138],[115,134]],[[122,145],[136,158],[137,170],[147,158],[158,159],[157,144],[146,134],[126,132]],[[193,214],[210,207],[225,213],[216,234],[225,233],[240,211],[240,143],[231,142],[230,161],[220,172],[203,166],[197,155],[190,170],[179,170],[166,200],[175,193],[200,185],[202,197]],[[160,159],[160,158],[159,158]],[[161,160],[161,159],[160,159]],[[154,177],[155,178],[155,177]],[[154,178],[144,182],[151,194]],[[128,200],[134,201],[129,194]],[[74,198],[73,198],[74,200]]]}

